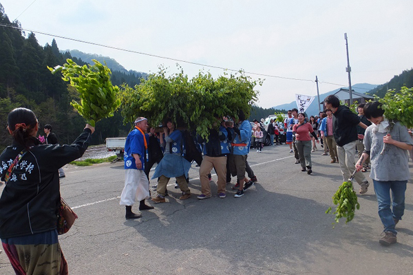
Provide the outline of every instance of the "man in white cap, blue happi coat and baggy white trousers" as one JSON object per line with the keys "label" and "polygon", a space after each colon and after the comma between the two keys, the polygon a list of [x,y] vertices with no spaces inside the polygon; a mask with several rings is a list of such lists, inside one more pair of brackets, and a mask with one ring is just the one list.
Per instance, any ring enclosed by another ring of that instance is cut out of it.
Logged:
{"label": "man in white cap, blue happi coat and baggy white trousers", "polygon": [[145,174],[145,157],[147,157],[147,141],[149,135],[145,136],[148,128],[146,118],[138,117],[135,129],[127,135],[125,142],[125,187],[120,195],[120,205],[126,208],[126,219],[138,219],[141,214],[132,212],[132,206],[136,199],[140,201],[139,210],[153,209],[145,204],[149,198],[149,181]]}

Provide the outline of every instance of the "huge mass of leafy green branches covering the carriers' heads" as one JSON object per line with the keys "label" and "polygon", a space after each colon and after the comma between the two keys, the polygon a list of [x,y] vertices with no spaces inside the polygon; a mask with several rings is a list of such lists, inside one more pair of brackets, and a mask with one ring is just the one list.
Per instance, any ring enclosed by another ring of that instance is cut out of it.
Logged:
{"label": "huge mass of leafy green branches covering the carriers' heads", "polygon": [[199,72],[189,79],[182,69],[166,76],[161,67],[134,88],[122,86],[124,123],[144,116],[149,124],[158,126],[171,118],[178,128],[207,137],[209,129],[219,126],[224,115],[237,118],[239,110],[249,115],[251,104],[257,100],[257,84],[262,85],[262,80],[251,80],[244,72],[224,74],[217,79],[210,73]]}

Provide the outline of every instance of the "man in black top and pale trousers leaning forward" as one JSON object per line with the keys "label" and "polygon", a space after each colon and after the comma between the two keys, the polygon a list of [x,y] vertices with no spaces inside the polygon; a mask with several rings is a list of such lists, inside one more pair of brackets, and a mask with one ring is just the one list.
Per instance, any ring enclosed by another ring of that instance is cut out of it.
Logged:
{"label": "man in black top and pale trousers leaning forward", "polygon": [[[337,96],[327,96],[324,102],[326,109],[330,109],[334,113],[332,133],[337,142],[337,153],[343,180],[348,181],[356,169],[354,155],[356,154],[356,142],[359,138],[357,137],[357,125],[363,127],[363,129],[366,129],[367,126],[347,106],[340,105],[340,100]],[[363,173],[357,172],[354,175],[354,179],[360,185],[359,193],[366,193],[369,182]]]}

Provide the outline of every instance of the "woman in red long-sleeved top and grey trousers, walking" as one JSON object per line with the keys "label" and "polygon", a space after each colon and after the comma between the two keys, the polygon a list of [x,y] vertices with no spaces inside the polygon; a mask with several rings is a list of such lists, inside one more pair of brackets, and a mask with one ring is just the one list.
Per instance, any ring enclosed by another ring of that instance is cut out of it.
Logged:
{"label": "woman in red long-sleeved top and grey trousers, walking", "polygon": [[311,126],[310,123],[305,122],[304,119],[304,113],[299,113],[298,123],[293,126],[293,133],[295,134],[295,146],[297,146],[301,171],[307,171],[307,174],[310,175],[313,173],[313,170],[311,170],[311,137],[309,133],[315,137],[317,143],[319,143],[319,140],[313,130],[313,126]]}

